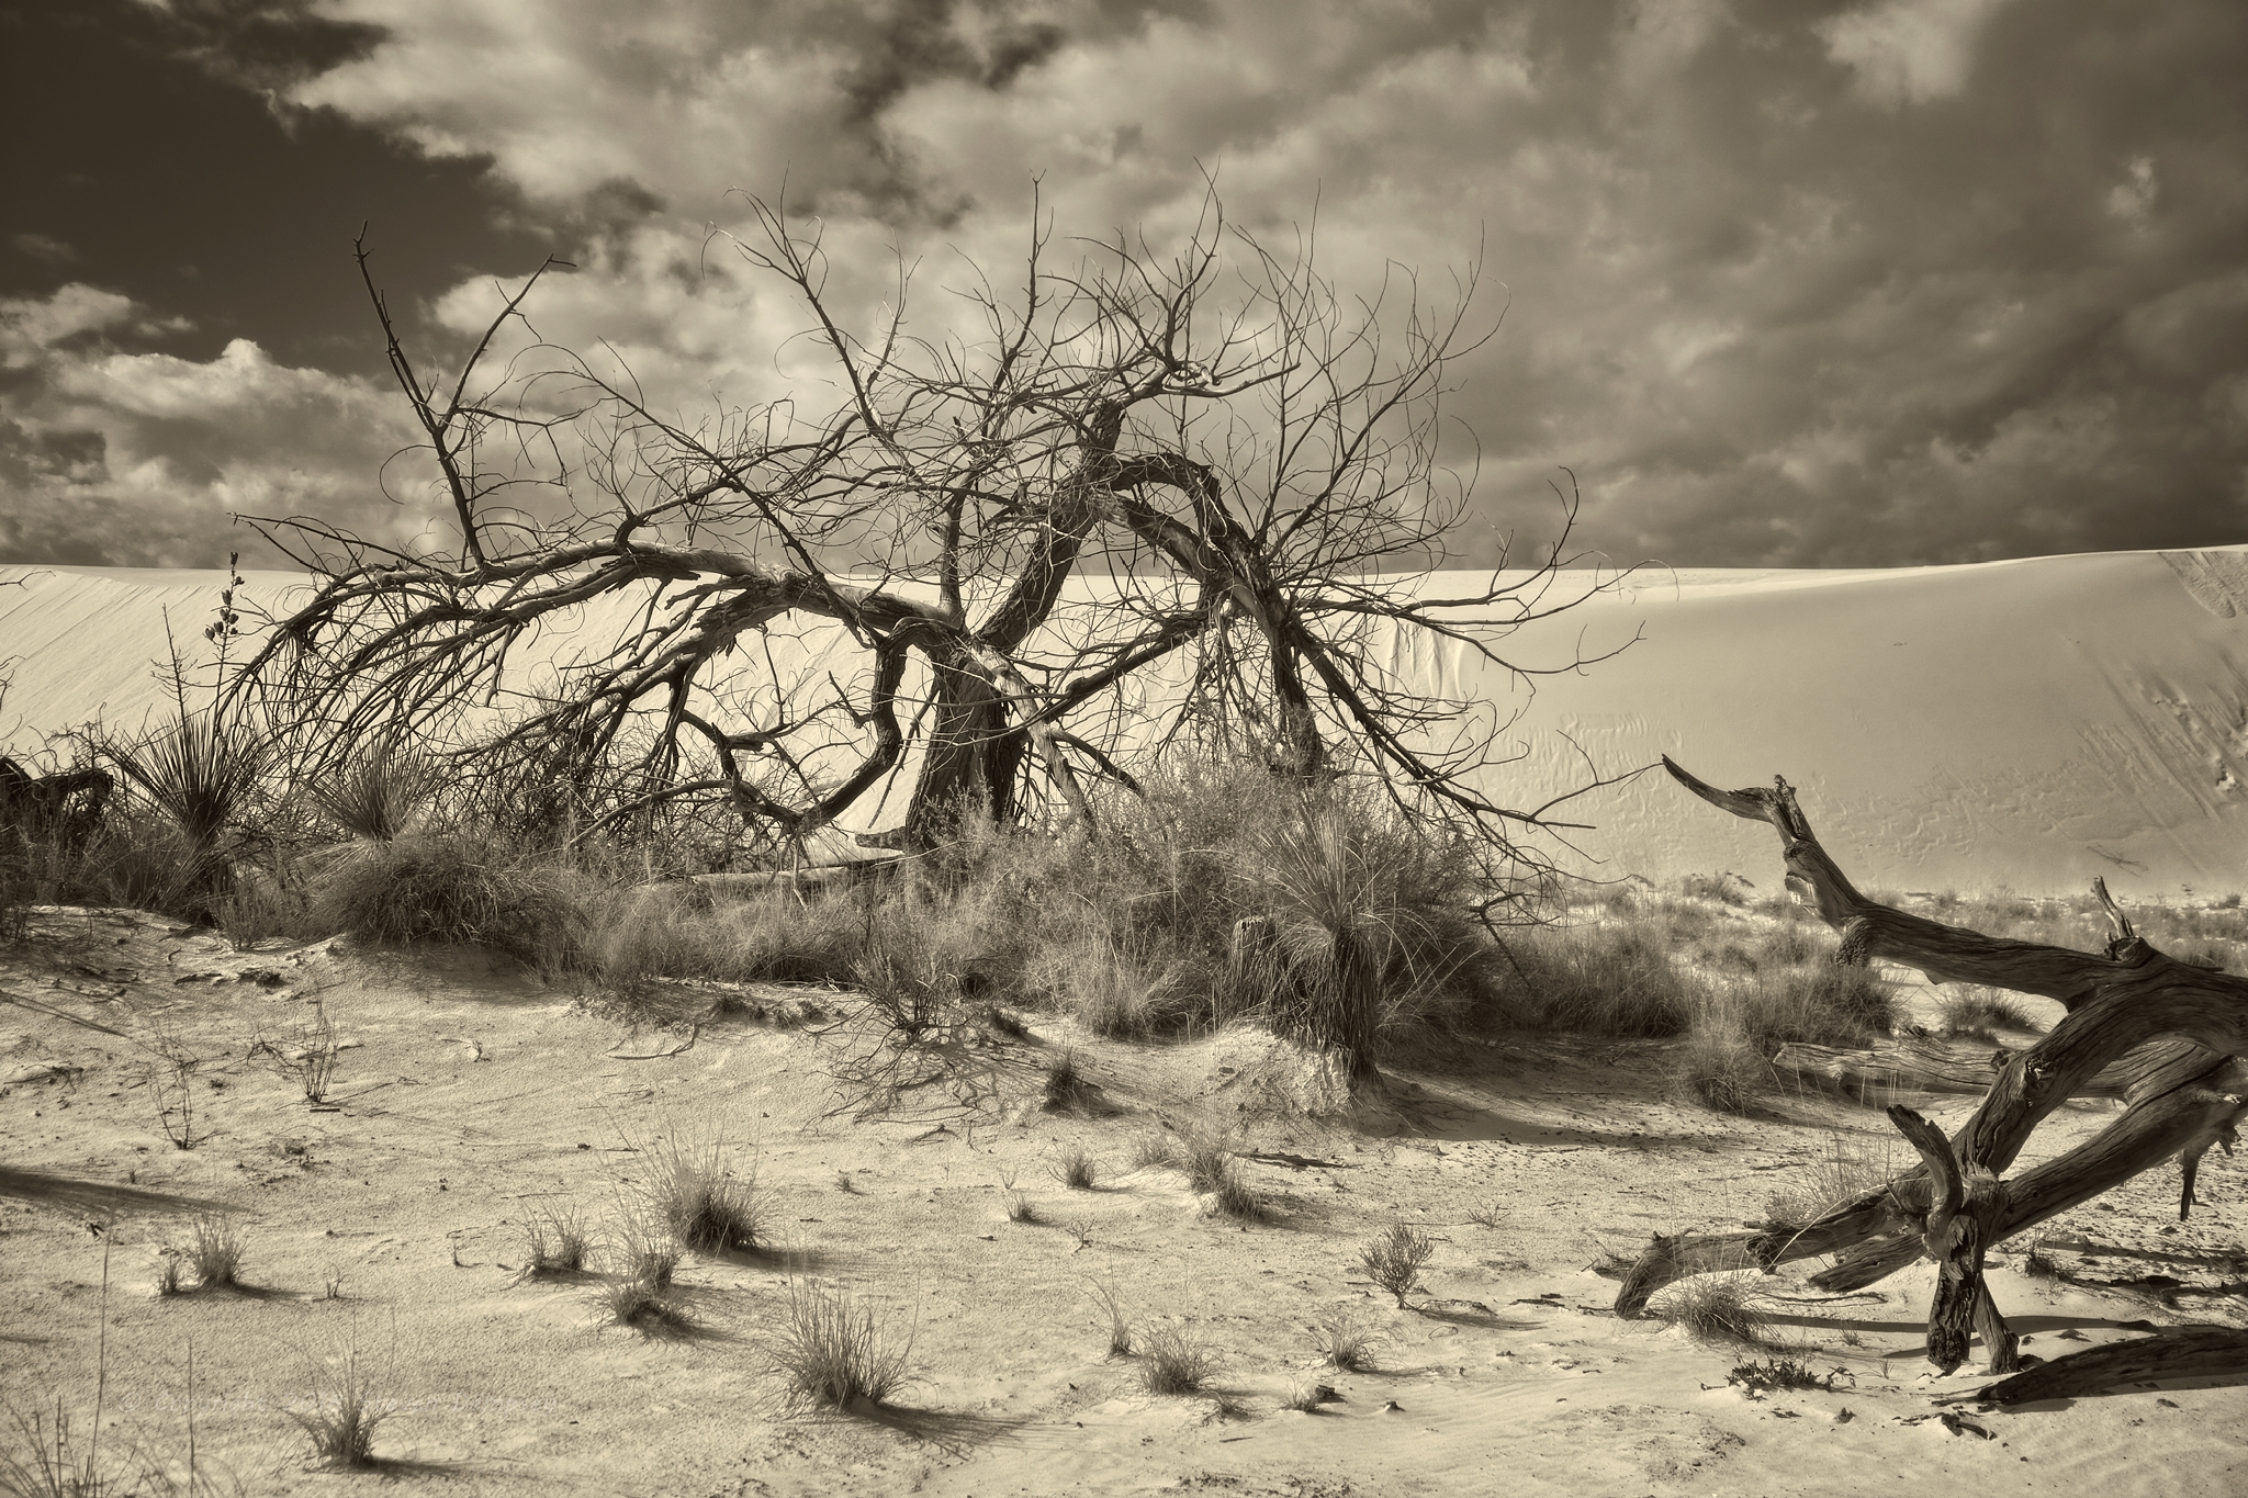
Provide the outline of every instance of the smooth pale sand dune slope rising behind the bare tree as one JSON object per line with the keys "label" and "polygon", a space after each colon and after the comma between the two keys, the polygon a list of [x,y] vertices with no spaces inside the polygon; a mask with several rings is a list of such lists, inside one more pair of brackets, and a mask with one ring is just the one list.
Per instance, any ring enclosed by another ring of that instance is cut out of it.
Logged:
{"label": "smooth pale sand dune slope rising behind the bare tree", "polygon": [[[0,568],[11,687],[0,748],[90,719],[166,710],[151,663],[205,651],[223,573]],[[7,584],[20,586],[7,586]],[[256,573],[245,600],[285,606]],[[1434,588],[1466,586],[1439,577]],[[1529,667],[1632,645],[1533,696],[1457,645],[1376,642],[1432,692],[1520,710],[1488,773],[1533,806],[1668,752],[1717,784],[1787,775],[1828,847],[1875,887],[2127,898],[2237,887],[2248,847],[2248,550],[2113,552],[1884,573],[1639,573],[1520,631]],[[566,658],[589,615],[544,631]],[[816,656],[816,636],[776,642]],[[812,665],[807,660],[807,665]],[[821,672],[807,672],[818,681]],[[895,815],[901,797],[890,797]],[[872,806],[874,802],[868,802]],[[1664,775],[1574,802],[1585,871],[1670,880],[1769,862],[1769,833],[1686,800]]]}

